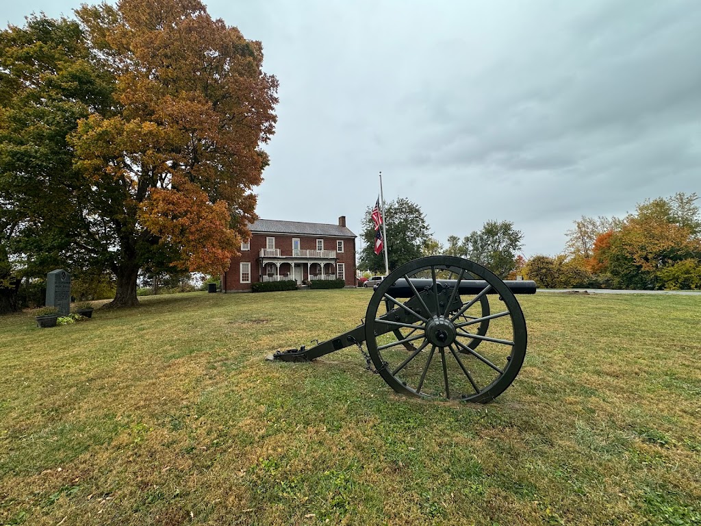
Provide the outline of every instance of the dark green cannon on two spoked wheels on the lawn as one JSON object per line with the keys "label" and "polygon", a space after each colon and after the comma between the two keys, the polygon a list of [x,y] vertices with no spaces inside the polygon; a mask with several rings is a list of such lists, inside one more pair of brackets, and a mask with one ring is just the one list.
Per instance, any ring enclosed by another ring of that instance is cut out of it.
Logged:
{"label": "dark green cannon on two spoked wheels on the lawn", "polygon": [[421,257],[375,285],[365,323],[268,359],[310,361],[356,345],[397,393],[488,403],[510,386],[526,356],[515,295],[535,292],[533,281],[501,281],[468,259]]}

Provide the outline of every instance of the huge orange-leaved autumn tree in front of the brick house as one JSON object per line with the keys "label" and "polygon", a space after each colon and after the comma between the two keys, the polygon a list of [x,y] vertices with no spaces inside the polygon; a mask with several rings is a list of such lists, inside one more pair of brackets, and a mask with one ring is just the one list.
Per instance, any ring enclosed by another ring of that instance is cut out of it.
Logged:
{"label": "huge orange-leaved autumn tree in front of the brick house", "polygon": [[[53,80],[55,68],[32,58],[25,39],[15,43],[0,87],[7,107],[20,109],[54,86],[76,104],[73,112],[48,108],[35,119],[37,128],[65,123],[52,137],[61,165],[29,159],[21,170],[5,163],[0,171],[46,177],[57,215],[34,222],[69,232],[71,243],[57,243],[53,252],[64,261],[116,276],[115,306],[137,303],[142,268],[226,270],[256,217],[252,189],[268,163],[260,145],[274,131],[278,83],[261,71],[261,44],[210,18],[199,0],[121,0],[76,14],[80,25],[66,22],[76,49],[60,64],[63,83]],[[53,42],[46,48],[62,50]],[[94,80],[72,78],[72,62],[82,68],[74,76]],[[75,86],[86,93],[68,93]],[[29,189],[22,198],[41,199]],[[20,206],[18,199],[9,203]]]}

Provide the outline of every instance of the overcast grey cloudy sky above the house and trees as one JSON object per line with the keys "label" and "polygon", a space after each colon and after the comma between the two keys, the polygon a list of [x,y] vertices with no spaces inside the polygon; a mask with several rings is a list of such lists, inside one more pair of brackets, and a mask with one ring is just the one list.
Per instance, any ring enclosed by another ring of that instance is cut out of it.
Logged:
{"label": "overcast grey cloudy sky above the house and trees", "polygon": [[[697,0],[205,0],[280,81],[264,219],[360,235],[407,198],[446,244],[489,220],[556,255],[581,216],[701,194]],[[0,22],[78,0],[4,3]],[[360,250],[360,241],[356,244]]]}

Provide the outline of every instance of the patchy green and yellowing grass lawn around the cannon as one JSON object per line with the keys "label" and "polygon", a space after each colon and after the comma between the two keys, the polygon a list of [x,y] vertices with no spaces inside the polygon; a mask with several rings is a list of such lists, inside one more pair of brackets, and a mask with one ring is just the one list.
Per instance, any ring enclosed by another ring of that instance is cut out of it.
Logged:
{"label": "patchy green and yellowing grass lawn around the cannon", "polygon": [[143,297],[0,318],[0,524],[699,525],[701,298],[522,297],[490,405],[393,393],[358,349],[371,290]]}

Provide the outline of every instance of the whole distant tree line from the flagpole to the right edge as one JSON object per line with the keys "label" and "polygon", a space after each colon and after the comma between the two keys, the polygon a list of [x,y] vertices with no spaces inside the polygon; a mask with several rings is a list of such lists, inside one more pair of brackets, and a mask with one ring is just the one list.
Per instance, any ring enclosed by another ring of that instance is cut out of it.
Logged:
{"label": "whole distant tree line from the flagpole to the right edge", "polygon": [[[421,207],[397,199],[386,207],[390,271],[422,255],[471,259],[501,278],[522,276],[544,288],[701,288],[701,218],[697,194],[677,193],[636,206],[624,218],[581,217],[566,232],[561,254],[521,255],[523,234],[509,221],[487,221],[479,231],[449,236],[443,245],[430,234]],[[374,249],[367,209],[360,268],[384,272]]]}

